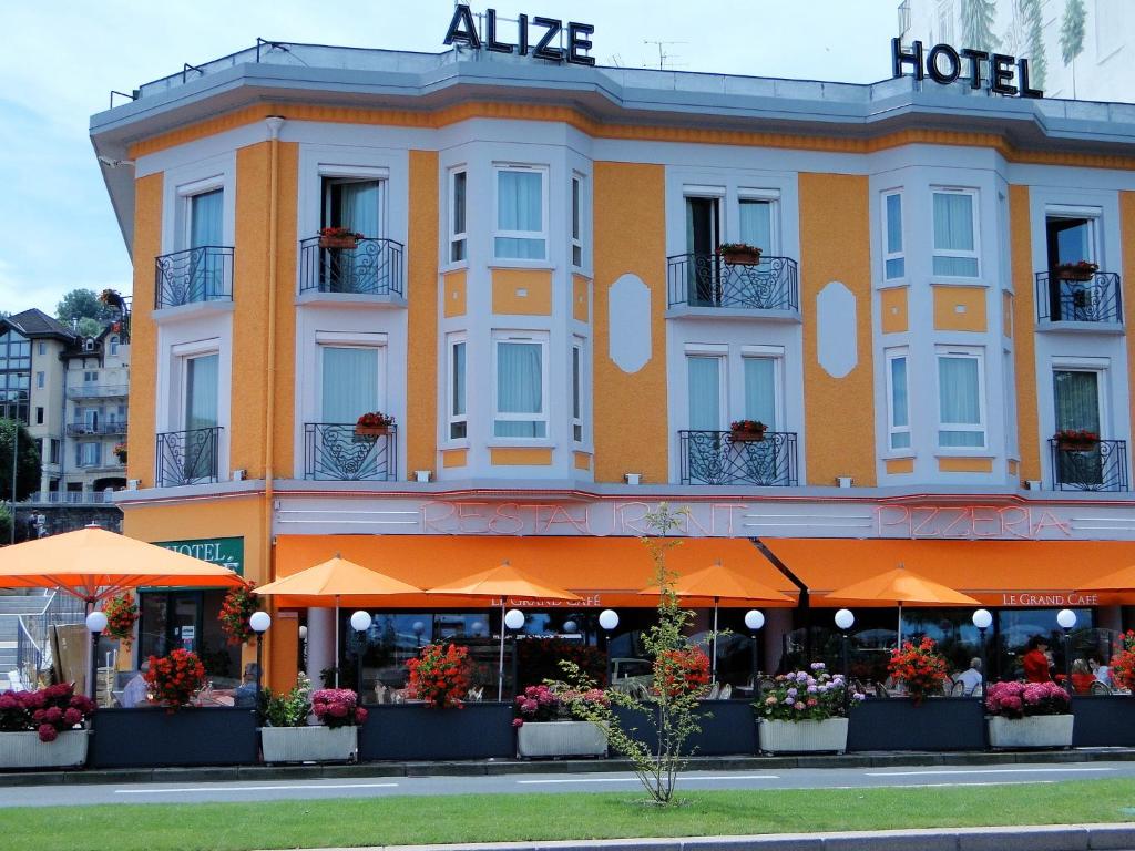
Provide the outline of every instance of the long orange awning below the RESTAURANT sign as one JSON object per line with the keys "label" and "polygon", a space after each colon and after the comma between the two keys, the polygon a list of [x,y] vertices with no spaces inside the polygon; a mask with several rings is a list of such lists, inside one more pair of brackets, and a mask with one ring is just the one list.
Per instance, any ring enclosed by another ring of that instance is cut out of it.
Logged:
{"label": "long orange awning below the RESTAURANT sign", "polygon": [[[651,584],[654,563],[637,538],[561,538],[505,536],[343,534],[280,536],[276,545],[276,575],[283,578],[340,553],[344,558],[423,588],[437,588],[502,562],[523,568],[550,585],[579,595],[582,603],[515,600],[548,607],[653,607],[656,600],[639,591]],[[796,587],[748,540],[684,539],[667,554],[667,565],[690,573],[722,561],[753,579],[796,599]],[[344,599],[344,605],[347,605]],[[352,598],[352,606],[381,608],[462,608],[468,597],[400,595],[396,598]],[[776,604],[770,604],[776,605]]]}

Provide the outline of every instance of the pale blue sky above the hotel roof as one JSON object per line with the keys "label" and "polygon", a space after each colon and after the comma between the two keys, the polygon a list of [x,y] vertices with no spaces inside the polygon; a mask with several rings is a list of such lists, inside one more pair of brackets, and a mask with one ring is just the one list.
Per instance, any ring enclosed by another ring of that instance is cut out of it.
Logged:
{"label": "pale blue sky above the hotel roof", "polygon": [[[872,83],[890,76],[898,0],[488,0],[595,26],[600,65]],[[110,90],[258,36],[439,52],[453,0],[0,0],[0,310],[131,288],[131,258],[87,135]],[[507,37],[507,35],[506,35]]]}

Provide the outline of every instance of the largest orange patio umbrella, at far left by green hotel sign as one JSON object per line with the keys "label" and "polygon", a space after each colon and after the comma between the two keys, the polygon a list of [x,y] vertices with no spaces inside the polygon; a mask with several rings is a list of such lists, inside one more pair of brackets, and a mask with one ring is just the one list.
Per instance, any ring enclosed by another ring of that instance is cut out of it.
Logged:
{"label": "largest orange patio umbrella, at far left by green hotel sign", "polygon": [[0,588],[53,588],[78,597],[87,608],[131,588],[242,582],[228,567],[99,526],[0,549]]}

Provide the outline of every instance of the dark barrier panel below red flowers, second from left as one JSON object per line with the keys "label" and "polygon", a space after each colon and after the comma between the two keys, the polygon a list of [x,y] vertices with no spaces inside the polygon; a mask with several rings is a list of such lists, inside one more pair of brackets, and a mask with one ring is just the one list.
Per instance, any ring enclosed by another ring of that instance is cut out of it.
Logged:
{"label": "dark barrier panel below red flowers, second from left", "polygon": [[465,703],[429,709],[422,703],[367,707],[359,727],[359,761],[378,759],[512,759],[516,736],[512,703]]}

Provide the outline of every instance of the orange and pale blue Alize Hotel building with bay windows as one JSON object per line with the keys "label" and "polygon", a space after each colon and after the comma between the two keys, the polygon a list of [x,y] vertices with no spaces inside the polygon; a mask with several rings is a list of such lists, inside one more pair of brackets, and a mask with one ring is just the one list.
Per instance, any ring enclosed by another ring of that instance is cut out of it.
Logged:
{"label": "orange and pale blue Alize Hotel building with bay windows", "polygon": [[[527,631],[602,642],[616,607],[633,657],[665,502],[678,565],[799,597],[767,613],[773,666],[897,562],[995,608],[1002,668],[1063,606],[1124,625],[1077,584],[1135,561],[1125,108],[262,43],[91,133],[135,268],[128,534],[257,582],[515,559],[586,600],[529,601]],[[321,245],[335,226],[362,238]],[[759,263],[717,255],[738,241]],[[356,431],[375,411],[396,424]],[[142,654],[215,649],[219,593],[143,598]],[[371,604],[368,677],[502,629],[486,601]],[[316,674],[331,605],[304,615]],[[903,617],[965,667],[969,614]],[[857,616],[893,637],[893,609]]]}

